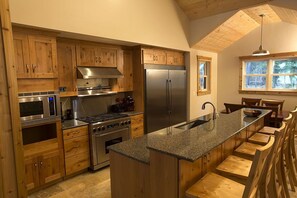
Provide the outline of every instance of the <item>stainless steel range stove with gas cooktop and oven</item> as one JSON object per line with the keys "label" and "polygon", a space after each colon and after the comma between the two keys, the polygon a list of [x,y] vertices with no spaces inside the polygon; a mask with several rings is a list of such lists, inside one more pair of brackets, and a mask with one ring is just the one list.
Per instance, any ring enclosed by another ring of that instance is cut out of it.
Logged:
{"label": "stainless steel range stove with gas cooktop and oven", "polygon": [[107,113],[78,120],[89,123],[92,170],[109,165],[108,146],[130,138],[131,120],[128,115]]}

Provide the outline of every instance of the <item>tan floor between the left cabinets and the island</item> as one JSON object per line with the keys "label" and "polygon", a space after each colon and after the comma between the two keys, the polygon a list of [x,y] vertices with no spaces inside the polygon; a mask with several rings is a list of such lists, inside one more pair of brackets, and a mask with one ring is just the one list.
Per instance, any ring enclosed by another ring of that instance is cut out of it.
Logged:
{"label": "tan floor between the left cabinets and the island", "polygon": [[[295,145],[297,150],[297,140]],[[29,198],[111,198],[109,172],[109,167],[87,172],[31,194]],[[290,191],[290,196],[297,198],[297,192]]]}

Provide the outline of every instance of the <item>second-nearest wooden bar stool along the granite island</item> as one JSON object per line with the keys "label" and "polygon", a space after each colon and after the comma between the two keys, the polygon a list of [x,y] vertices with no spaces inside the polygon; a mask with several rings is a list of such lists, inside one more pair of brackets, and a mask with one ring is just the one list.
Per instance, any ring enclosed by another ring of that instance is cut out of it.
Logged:
{"label": "second-nearest wooden bar stool along the granite island", "polygon": [[[275,187],[274,184],[271,182],[271,180],[275,180],[274,164],[275,164],[276,154],[278,154],[276,151],[279,150],[279,148],[282,146],[280,143],[284,138],[284,131],[285,131],[285,123],[283,123],[279,131],[275,131],[275,134],[274,134],[275,142],[274,142],[272,151],[270,152],[270,155],[267,158],[267,166],[263,170],[264,171],[263,179],[261,181],[261,189],[260,189],[260,193],[262,195],[261,197],[268,197],[268,194],[284,195],[285,193],[282,188],[280,190],[277,190],[278,188]],[[250,160],[246,160],[244,158],[230,155],[216,168],[216,171],[218,171],[218,173],[222,176],[228,177],[235,181],[239,180],[240,182],[241,180],[247,179],[247,175],[249,174],[250,169],[251,169]]]}

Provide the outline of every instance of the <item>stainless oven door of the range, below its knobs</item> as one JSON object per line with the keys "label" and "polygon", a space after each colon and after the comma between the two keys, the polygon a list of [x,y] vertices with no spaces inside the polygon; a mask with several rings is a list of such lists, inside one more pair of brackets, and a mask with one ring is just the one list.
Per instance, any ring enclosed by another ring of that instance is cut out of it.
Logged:
{"label": "stainless oven door of the range, below its knobs", "polygon": [[[97,153],[97,165],[109,161],[108,146],[120,143],[129,139],[130,128],[122,128],[116,131],[112,131],[104,134],[96,134],[96,153]],[[96,164],[94,164],[96,166]]]}

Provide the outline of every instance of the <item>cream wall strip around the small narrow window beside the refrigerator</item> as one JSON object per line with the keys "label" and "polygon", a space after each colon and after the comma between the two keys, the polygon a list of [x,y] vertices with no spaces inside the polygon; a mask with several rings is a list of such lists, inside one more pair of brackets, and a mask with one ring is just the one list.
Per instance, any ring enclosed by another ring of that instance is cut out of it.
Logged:
{"label": "cream wall strip around the small narrow window beside the refrigerator", "polygon": [[[211,62],[211,94],[197,96],[197,55],[207,56],[212,58]],[[217,54],[201,51],[190,51],[190,66],[189,68],[189,119],[194,119],[198,116],[202,116],[212,112],[210,105],[206,106],[205,110],[202,110],[202,104],[206,101],[212,102],[217,106]]]}

